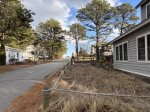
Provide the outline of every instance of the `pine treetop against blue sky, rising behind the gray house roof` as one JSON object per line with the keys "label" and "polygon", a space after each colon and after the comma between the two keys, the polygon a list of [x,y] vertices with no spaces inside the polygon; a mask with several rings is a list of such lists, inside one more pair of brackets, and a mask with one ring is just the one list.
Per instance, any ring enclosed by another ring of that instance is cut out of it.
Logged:
{"label": "pine treetop against blue sky, rising behind the gray house roof", "polygon": [[119,29],[120,35],[134,27],[139,19],[136,10],[128,3],[123,3],[115,8],[115,27]]}

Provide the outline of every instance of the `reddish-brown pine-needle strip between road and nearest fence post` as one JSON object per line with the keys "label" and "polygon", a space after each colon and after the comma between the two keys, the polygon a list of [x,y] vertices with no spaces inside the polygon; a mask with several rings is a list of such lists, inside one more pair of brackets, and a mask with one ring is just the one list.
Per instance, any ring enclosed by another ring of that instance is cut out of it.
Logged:
{"label": "reddish-brown pine-needle strip between road and nearest fence post", "polygon": [[36,84],[29,92],[17,97],[5,112],[37,112],[43,100],[39,95],[42,88],[43,85]]}

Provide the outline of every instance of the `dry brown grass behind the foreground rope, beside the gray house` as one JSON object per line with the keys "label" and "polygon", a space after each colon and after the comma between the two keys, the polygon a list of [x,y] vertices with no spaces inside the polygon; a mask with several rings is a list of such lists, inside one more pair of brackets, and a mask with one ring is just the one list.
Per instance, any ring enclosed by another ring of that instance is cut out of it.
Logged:
{"label": "dry brown grass behind the foreground rope, beside the gray house", "polygon": [[150,95],[150,84],[119,71],[107,71],[91,65],[74,65],[64,76],[72,88],[102,93]]}

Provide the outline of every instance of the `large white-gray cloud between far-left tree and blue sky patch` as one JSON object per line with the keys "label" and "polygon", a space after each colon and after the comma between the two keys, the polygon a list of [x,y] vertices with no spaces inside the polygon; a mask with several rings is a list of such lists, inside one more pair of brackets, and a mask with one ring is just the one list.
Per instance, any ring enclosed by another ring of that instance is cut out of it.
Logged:
{"label": "large white-gray cloud between far-left tree and blue sky patch", "polygon": [[65,21],[70,16],[70,8],[62,0],[24,0],[22,2],[25,7],[35,12],[32,23],[34,28],[39,22],[49,18],[57,19],[62,26],[65,26]]}

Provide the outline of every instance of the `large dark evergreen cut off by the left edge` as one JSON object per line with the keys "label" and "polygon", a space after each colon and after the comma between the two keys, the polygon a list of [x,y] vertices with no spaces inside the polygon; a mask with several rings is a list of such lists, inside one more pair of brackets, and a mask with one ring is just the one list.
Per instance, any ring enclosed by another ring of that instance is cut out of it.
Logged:
{"label": "large dark evergreen cut off by the left edge", "polygon": [[[11,33],[21,27],[30,27],[33,13],[26,9],[20,0],[0,0],[0,15],[0,45],[4,50],[3,46]],[[3,50],[0,51],[0,62],[6,59]]]}

